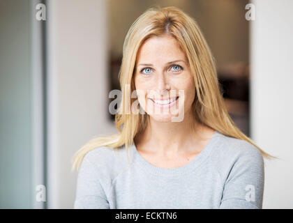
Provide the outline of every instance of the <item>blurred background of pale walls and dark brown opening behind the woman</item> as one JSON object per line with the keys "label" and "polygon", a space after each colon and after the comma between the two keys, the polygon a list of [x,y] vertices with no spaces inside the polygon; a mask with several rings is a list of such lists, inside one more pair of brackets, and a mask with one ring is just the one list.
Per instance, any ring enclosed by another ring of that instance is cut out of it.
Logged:
{"label": "blurred background of pale walls and dark brown opening behind the woman", "polygon": [[293,208],[293,1],[0,0],[0,208],[73,208],[75,151],[117,132],[123,40],[150,6],[195,18],[230,116],[264,151],[263,208]]}

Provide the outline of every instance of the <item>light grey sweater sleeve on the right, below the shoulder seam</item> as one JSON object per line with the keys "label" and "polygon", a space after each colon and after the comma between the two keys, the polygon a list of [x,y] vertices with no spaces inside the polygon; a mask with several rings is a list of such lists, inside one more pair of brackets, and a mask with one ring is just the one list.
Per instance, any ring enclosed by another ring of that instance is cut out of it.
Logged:
{"label": "light grey sweater sleeve on the right, below the shoulder seam", "polygon": [[[250,144],[251,145],[251,144]],[[223,188],[221,209],[262,209],[264,159],[255,147],[234,159]]]}

